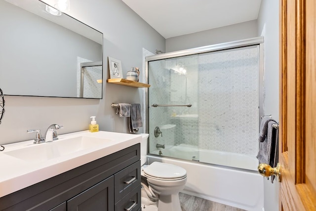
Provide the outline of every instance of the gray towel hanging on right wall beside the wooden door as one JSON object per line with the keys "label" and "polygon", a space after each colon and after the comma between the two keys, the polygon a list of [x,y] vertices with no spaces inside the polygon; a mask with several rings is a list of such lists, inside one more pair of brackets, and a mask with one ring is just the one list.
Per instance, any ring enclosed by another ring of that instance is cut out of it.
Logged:
{"label": "gray towel hanging on right wall beside the wooden door", "polygon": [[[259,151],[256,156],[259,163],[267,163],[271,167],[276,167],[278,162],[278,129],[272,125],[277,124],[276,120],[265,117],[260,124]],[[275,176],[271,177],[271,182]]]}

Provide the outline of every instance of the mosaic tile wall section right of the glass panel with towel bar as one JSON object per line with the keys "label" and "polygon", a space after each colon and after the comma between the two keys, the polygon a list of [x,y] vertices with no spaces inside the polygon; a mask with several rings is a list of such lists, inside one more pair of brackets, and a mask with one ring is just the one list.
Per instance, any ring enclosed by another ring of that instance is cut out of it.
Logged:
{"label": "mosaic tile wall section right of the glass panel with towel bar", "polygon": [[256,155],[259,47],[199,57],[200,148]]}

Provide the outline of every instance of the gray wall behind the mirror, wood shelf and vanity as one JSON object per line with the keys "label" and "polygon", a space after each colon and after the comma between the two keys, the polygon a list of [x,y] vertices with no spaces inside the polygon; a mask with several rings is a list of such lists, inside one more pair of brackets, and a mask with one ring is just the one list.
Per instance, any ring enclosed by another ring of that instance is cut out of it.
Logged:
{"label": "gray wall behind the mirror, wood shelf and vanity", "polygon": [[[165,50],[165,39],[120,0],[72,0],[69,15],[104,34],[104,80],[108,56],[121,61],[126,75],[130,67],[142,67],[143,47],[151,52]],[[87,130],[92,115],[100,130],[127,133],[127,121],[115,114],[111,103],[142,105],[142,89],[104,83],[102,100],[5,96],[0,144],[32,140],[35,134],[26,130],[44,133],[52,123],[64,125],[59,134]]]}

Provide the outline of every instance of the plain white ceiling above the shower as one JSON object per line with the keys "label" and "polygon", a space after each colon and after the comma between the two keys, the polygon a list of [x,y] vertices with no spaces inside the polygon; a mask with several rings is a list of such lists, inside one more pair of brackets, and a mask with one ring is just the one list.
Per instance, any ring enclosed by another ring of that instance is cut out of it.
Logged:
{"label": "plain white ceiling above the shower", "polygon": [[261,0],[122,0],[170,38],[255,20]]}

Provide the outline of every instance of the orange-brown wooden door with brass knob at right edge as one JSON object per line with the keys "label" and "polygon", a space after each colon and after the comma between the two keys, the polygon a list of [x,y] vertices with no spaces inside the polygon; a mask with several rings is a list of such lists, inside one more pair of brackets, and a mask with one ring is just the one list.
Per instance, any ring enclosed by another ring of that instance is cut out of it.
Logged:
{"label": "orange-brown wooden door with brass knob at right edge", "polygon": [[280,211],[316,211],[316,0],[280,0]]}

